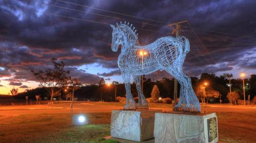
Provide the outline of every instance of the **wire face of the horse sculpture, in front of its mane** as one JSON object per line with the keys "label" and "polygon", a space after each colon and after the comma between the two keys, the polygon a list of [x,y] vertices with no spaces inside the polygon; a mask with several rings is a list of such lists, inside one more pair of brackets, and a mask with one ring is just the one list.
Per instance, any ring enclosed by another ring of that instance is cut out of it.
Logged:
{"label": "wire face of the horse sculpture, in front of its mane", "polygon": [[113,28],[111,49],[112,51],[117,51],[118,46],[122,44],[122,41],[121,41],[122,35],[114,25],[110,25],[110,26]]}

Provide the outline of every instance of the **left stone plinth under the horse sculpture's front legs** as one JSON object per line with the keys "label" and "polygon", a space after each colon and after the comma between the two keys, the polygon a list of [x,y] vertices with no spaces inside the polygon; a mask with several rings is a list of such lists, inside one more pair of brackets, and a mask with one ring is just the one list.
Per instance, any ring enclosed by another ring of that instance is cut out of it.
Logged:
{"label": "left stone plinth under the horse sculpture's front legs", "polygon": [[112,110],[111,136],[133,141],[154,137],[155,113],[162,110]]}

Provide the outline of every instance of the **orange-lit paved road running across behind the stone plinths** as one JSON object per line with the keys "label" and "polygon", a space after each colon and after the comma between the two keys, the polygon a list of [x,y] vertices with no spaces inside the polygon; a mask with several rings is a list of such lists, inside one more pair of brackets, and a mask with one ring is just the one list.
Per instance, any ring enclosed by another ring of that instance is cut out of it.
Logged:
{"label": "orange-lit paved road running across behind the stone plinths", "polygon": [[[121,109],[121,106],[110,105],[92,105],[89,103],[75,103],[74,113],[91,113],[91,112],[111,112],[114,109]],[[162,111],[172,111],[172,108],[151,108],[161,109]],[[256,106],[229,106],[219,104],[209,104],[207,107],[202,106],[202,112],[256,112]],[[28,105],[28,106],[0,106],[0,115],[18,116],[24,114],[36,113],[69,113],[70,104],[53,104],[53,105]]]}

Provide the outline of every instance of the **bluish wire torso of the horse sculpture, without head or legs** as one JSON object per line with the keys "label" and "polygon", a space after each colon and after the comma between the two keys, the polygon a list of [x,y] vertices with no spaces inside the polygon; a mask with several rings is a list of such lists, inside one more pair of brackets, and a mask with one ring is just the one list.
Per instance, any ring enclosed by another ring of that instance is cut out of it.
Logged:
{"label": "bluish wire torso of the horse sculpture, without head or legs", "polygon": [[[173,66],[176,60],[176,58],[170,57],[185,56],[183,55],[183,45],[177,45],[177,42],[180,42],[179,39],[168,36],[159,38],[149,45],[130,46],[125,53],[119,55],[118,67],[133,73],[133,75],[150,74],[157,70],[164,70],[163,66],[166,63],[168,66]],[[145,51],[146,55],[142,57],[139,54],[140,51]],[[166,55],[164,58],[162,57],[163,54]]]}

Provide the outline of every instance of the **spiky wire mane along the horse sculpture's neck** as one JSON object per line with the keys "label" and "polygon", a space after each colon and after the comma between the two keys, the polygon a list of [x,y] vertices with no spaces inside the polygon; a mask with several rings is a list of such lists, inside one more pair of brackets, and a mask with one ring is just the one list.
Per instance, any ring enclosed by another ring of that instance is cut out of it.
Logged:
{"label": "spiky wire mane along the horse sculpture's neck", "polygon": [[[138,34],[136,33],[137,30],[135,27],[132,28],[132,26],[133,26],[132,23],[131,23],[131,25],[129,25],[129,22],[127,22],[127,24],[126,24],[126,21],[124,21],[124,23],[122,23],[122,21],[120,21],[120,24],[116,23],[116,25],[117,25],[117,28],[120,28],[121,30],[123,30],[124,33],[129,34],[127,32],[130,32],[134,38],[134,39],[130,39],[130,40],[135,41],[135,44],[139,43]],[[127,30],[129,30],[129,31],[127,31]],[[127,37],[127,38],[129,38],[129,37]],[[133,41],[130,41],[130,42],[133,42]]]}

